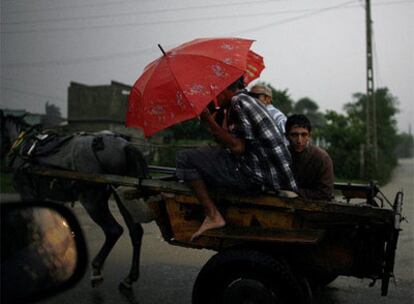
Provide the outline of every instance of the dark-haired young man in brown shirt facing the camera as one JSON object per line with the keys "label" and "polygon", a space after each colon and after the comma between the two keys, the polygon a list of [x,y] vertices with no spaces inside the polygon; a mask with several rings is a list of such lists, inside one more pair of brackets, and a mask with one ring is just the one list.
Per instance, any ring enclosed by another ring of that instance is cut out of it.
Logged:
{"label": "dark-haired young man in brown shirt facing the camera", "polygon": [[294,114],[287,119],[285,128],[299,195],[306,199],[331,200],[335,179],[332,159],[325,150],[311,144],[309,119]]}

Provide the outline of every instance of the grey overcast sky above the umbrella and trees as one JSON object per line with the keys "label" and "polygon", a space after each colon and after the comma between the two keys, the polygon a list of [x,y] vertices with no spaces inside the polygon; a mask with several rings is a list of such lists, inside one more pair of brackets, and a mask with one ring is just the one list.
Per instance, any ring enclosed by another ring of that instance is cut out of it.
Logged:
{"label": "grey overcast sky above the umbrella and trees", "polygon": [[[375,86],[414,122],[414,0],[372,0]],[[1,0],[1,107],[67,115],[70,81],[133,84],[165,49],[200,37],[255,39],[260,80],[342,111],[366,92],[365,8],[354,0]]]}

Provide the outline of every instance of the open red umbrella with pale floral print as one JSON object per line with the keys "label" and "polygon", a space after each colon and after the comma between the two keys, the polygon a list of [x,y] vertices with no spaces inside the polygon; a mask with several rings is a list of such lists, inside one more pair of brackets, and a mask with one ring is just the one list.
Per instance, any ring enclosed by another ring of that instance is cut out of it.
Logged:
{"label": "open red umbrella with pale floral print", "polygon": [[127,127],[145,136],[197,117],[226,87],[244,75],[259,77],[263,58],[250,50],[253,40],[196,39],[151,62],[135,82],[128,100]]}

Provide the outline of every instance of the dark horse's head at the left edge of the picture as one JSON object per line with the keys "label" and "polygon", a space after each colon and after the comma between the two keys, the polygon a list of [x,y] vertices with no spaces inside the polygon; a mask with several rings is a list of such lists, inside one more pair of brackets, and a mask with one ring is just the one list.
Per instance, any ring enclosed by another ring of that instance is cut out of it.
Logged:
{"label": "dark horse's head at the left edge of the picture", "polygon": [[0,124],[0,157],[3,159],[19,134],[28,129],[30,125],[24,121],[24,116],[5,115],[3,110],[0,110]]}

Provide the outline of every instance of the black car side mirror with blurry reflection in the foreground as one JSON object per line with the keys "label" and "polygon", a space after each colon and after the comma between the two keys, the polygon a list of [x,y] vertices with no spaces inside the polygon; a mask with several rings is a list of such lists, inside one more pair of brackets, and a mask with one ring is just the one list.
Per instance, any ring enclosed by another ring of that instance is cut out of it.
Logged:
{"label": "black car side mirror with blurry reflection in the foreground", "polygon": [[66,207],[46,202],[1,203],[1,301],[27,303],[77,283],[87,250]]}

